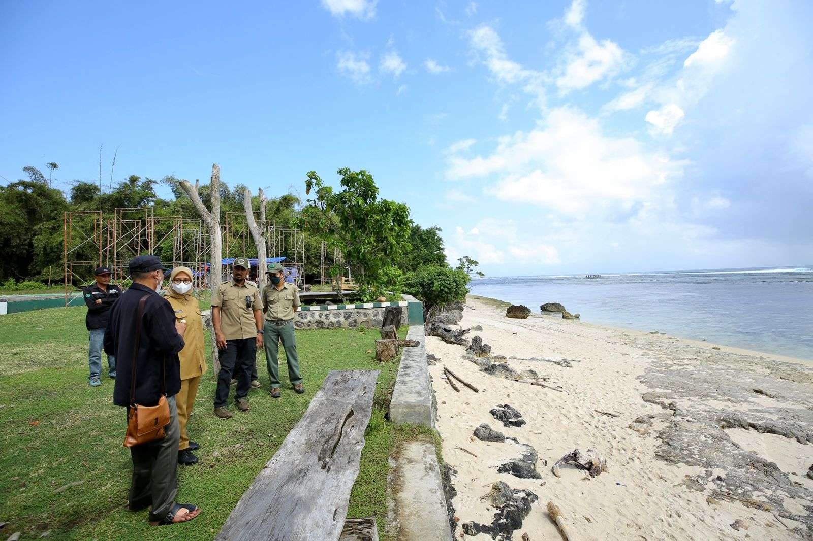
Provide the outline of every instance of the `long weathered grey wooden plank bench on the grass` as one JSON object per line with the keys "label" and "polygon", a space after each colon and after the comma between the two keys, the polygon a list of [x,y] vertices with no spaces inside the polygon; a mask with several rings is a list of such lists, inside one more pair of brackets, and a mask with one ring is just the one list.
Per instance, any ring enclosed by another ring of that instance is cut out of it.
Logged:
{"label": "long weathered grey wooden plank bench on the grass", "polygon": [[339,539],[379,370],[333,370],[220,529],[221,541]]}

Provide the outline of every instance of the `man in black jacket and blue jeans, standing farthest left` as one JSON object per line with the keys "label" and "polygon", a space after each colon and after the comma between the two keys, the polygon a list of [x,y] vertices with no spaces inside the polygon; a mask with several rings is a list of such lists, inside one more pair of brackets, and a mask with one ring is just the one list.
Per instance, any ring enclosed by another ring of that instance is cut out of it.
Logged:
{"label": "man in black jacket and blue jeans, standing farthest left", "polygon": [[[104,333],[107,328],[107,317],[113,303],[119,299],[121,290],[115,285],[111,285],[111,272],[107,266],[99,266],[93,272],[96,276],[96,283],[82,290],[82,297],[88,305],[88,314],[85,316],[85,326],[90,331],[90,352],[88,354],[88,364],[90,375],[88,377],[91,387],[98,387],[102,384],[100,376],[102,374],[102,344],[104,343]],[[115,357],[107,356],[107,375],[115,379]]]}

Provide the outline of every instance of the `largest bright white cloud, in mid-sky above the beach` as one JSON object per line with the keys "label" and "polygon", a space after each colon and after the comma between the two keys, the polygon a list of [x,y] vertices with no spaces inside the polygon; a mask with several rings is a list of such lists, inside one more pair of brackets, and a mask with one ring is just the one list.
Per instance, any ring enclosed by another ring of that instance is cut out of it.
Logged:
{"label": "largest bright white cloud, in mid-sky above the beach", "polygon": [[633,137],[604,135],[596,119],[567,107],[551,110],[531,132],[500,137],[485,157],[452,153],[447,166],[450,180],[495,175],[485,193],[502,201],[572,216],[633,212],[657,201],[682,168]]}

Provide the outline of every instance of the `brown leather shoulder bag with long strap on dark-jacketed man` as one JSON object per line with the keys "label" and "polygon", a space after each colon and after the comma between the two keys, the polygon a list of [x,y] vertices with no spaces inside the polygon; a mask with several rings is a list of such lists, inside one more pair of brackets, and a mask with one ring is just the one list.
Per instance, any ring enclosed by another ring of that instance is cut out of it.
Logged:
{"label": "brown leather shoulder bag with long strap on dark-jacketed man", "polygon": [[136,364],[138,343],[141,340],[141,318],[144,315],[144,304],[147,296],[138,301],[136,318],[136,345],[133,348],[133,379],[130,382],[130,411],[127,416],[127,434],[124,435],[124,447],[149,444],[164,436],[163,428],[169,424],[169,403],[167,402],[167,366],[162,367],[163,382],[158,405],[144,406],[136,404]]}

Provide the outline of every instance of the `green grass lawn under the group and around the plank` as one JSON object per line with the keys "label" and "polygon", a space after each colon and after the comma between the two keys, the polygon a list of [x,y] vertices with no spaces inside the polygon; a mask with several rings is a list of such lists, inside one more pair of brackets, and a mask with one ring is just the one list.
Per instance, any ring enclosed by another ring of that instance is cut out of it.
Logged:
{"label": "green grass lawn under the group and around the plank", "polygon": [[[0,317],[0,522],[8,522],[2,537],[22,531],[22,539],[37,539],[50,530],[50,539],[214,539],[328,371],[353,369],[381,374],[348,516],[376,516],[383,537],[389,452],[400,440],[434,436],[385,422],[398,365],[375,361],[376,337],[375,330],[298,331],[307,393],[300,396],[284,386],[280,400],[268,394],[265,359],[258,352],[263,388],[250,393],[249,413],[230,405],[235,415],[228,420],[213,415],[215,374],[204,374],[188,426],[190,437],[201,444],[200,462],[178,468],[178,501],[198,504],[202,514],[184,525],[159,528],[149,526],[146,510],[126,509],[132,470],[122,447],[125,413],[112,404],[107,361],[102,360],[102,387],[88,385],[85,308]],[[280,357],[285,382],[282,348]]]}

